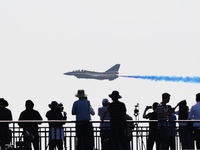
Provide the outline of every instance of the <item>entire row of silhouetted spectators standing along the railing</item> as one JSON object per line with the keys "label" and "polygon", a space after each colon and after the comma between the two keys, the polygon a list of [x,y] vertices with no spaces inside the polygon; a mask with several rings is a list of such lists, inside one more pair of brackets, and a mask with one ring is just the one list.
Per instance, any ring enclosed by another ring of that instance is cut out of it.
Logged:
{"label": "entire row of silhouetted spectators standing along the railing", "polygon": [[[84,90],[78,90],[75,96],[77,100],[72,105],[71,113],[76,117],[76,150],[94,150],[94,132],[90,120],[91,115],[95,115],[95,111]],[[98,116],[101,120],[101,149],[132,150],[130,144],[132,131],[137,124],[131,122],[133,118],[127,114],[125,104],[119,101],[122,96],[118,91],[112,91],[108,96],[112,102],[104,98],[102,107],[98,108]],[[154,147],[156,150],[175,150],[177,149],[175,142],[177,135],[180,138],[181,149],[195,149],[195,147],[200,149],[200,122],[189,121],[200,120],[200,93],[196,94],[196,104],[190,109],[186,100],[180,101],[175,107],[168,105],[170,96],[169,93],[163,93],[161,102],[154,102],[143,112],[143,118],[150,120],[147,150],[152,150]],[[1,149],[4,149],[12,138],[9,128],[12,113],[7,106],[8,102],[0,98],[0,120],[4,121],[0,123]],[[45,116],[49,120],[49,143],[46,149],[63,150],[63,125],[66,123],[67,113],[63,110],[62,103],[52,101],[48,106],[50,110]],[[148,110],[152,111],[147,113]],[[34,121],[31,122],[31,120]],[[42,120],[40,113],[34,109],[33,101],[27,100],[25,110],[20,113],[18,122],[19,127],[23,129],[24,150],[32,150],[32,147],[34,150],[40,149],[38,126]],[[58,122],[52,120],[58,120]],[[179,128],[176,127],[175,120],[179,120]]]}

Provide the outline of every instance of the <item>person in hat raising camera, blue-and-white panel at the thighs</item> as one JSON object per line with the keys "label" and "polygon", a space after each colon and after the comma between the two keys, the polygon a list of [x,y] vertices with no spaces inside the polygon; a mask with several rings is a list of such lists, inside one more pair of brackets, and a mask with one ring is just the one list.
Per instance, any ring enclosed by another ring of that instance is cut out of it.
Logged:
{"label": "person in hat raising camera, blue-and-white panel at the thighs", "polygon": [[[46,113],[47,119],[50,120],[61,120],[67,119],[66,112],[63,111],[62,104],[58,104],[56,101],[52,101],[49,104],[50,110]],[[64,140],[64,128],[65,122],[49,122],[49,150],[63,150]]]}

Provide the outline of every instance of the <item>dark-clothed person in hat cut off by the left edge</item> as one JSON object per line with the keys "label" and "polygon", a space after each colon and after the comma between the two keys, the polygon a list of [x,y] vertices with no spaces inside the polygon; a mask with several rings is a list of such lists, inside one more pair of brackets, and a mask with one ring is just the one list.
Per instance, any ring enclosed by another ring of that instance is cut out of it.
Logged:
{"label": "dark-clothed person in hat cut off by the left edge", "polygon": [[[0,98],[0,120],[12,121],[12,113],[6,108],[8,102],[4,98]],[[0,145],[1,149],[5,147],[5,144],[11,142],[11,130],[9,130],[9,123],[0,123]]]}

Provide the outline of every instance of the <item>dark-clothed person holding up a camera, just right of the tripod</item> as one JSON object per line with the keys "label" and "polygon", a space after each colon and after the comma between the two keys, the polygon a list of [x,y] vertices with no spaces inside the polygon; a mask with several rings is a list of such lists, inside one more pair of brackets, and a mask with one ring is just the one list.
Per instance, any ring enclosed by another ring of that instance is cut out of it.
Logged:
{"label": "dark-clothed person holding up a camera, just right of the tripod", "polygon": [[[144,110],[143,118],[149,119],[149,120],[158,120],[157,119],[157,112],[156,112],[157,106],[158,106],[157,102],[153,103],[152,107],[147,106]],[[147,111],[151,108],[153,109],[153,111],[146,114]],[[149,123],[149,136],[148,136],[148,139],[147,139],[147,150],[153,150],[154,142],[156,143],[156,150],[160,149],[159,137],[158,137],[158,134],[157,134],[157,130],[158,130],[158,123],[157,122],[150,122]]]}

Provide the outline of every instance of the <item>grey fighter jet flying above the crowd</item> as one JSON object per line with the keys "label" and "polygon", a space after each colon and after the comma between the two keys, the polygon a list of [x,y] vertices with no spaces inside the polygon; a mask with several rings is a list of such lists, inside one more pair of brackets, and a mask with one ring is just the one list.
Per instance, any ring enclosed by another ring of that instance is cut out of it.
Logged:
{"label": "grey fighter jet flying above the crowd", "polygon": [[97,80],[114,80],[118,78],[118,70],[120,64],[116,64],[105,72],[95,72],[88,70],[75,70],[72,72],[66,72],[64,75],[72,75],[77,78],[85,78],[85,79],[97,79]]}

